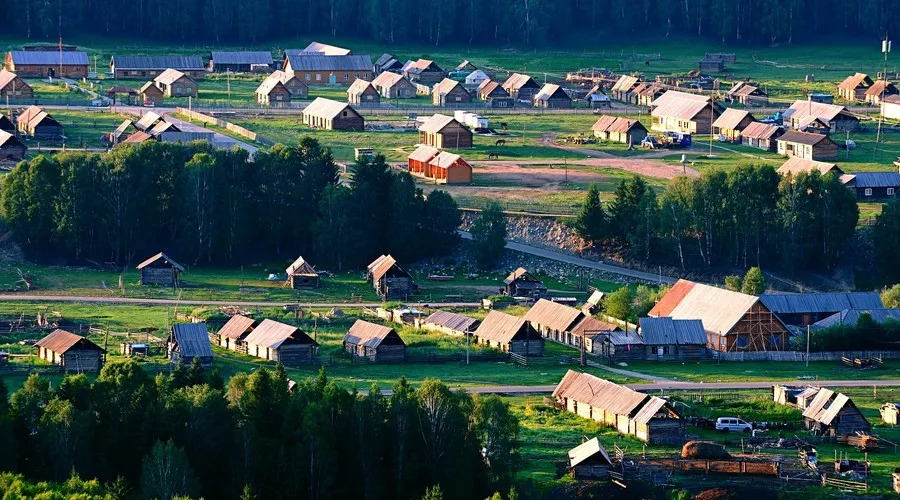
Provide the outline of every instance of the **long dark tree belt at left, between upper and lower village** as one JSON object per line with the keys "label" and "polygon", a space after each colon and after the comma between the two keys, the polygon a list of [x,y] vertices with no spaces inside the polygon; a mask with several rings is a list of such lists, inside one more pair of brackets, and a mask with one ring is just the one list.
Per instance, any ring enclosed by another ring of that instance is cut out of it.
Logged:
{"label": "long dark tree belt at left, between upper and lower village", "polygon": [[119,264],[160,250],[185,264],[256,263],[303,254],[354,266],[452,248],[453,199],[427,197],[383,157],[339,183],[331,152],[305,138],[256,154],[147,143],[108,154],[37,156],[0,185],[0,209],[31,256]]}

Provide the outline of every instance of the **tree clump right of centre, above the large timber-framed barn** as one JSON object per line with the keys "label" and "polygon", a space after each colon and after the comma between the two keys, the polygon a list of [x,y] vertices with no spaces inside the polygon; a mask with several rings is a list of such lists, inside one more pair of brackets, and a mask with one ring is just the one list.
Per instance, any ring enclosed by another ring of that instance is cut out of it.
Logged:
{"label": "tree clump right of centre, above the large timber-framed barn", "polygon": [[856,198],[837,176],[782,177],[755,165],[678,177],[659,197],[637,176],[608,203],[591,189],[576,229],[648,263],[794,271],[835,265],[858,219]]}

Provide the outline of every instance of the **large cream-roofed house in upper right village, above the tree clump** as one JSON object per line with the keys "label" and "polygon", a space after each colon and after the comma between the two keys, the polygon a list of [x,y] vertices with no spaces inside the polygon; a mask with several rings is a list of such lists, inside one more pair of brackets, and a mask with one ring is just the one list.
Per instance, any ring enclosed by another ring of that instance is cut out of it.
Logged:
{"label": "large cream-roofed house in upper right village, above the tree clump", "polygon": [[718,105],[709,97],[670,90],[653,101],[651,130],[708,134],[719,117]]}

